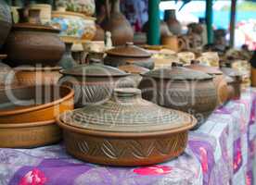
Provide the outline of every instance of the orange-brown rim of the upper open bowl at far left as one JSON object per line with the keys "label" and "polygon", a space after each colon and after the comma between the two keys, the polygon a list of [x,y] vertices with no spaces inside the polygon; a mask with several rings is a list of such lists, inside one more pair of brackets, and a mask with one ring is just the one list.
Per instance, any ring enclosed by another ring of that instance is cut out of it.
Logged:
{"label": "orange-brown rim of the upper open bowl at far left", "polygon": [[[64,97],[55,100],[53,102],[47,103],[47,104],[43,104],[43,105],[35,105],[29,108],[23,108],[23,109],[19,109],[19,110],[7,110],[7,111],[0,111],[0,117],[6,117],[6,116],[11,116],[11,115],[18,115],[18,114],[22,114],[22,113],[29,113],[32,111],[36,111],[36,110],[41,110],[41,109],[45,109],[47,107],[50,106],[55,106],[55,105],[59,105],[67,100],[70,100],[70,98],[72,98],[74,96],[74,90],[71,89],[68,86],[62,85],[62,86],[58,86],[58,85],[29,85],[29,86],[17,86],[17,87],[13,87],[10,88],[12,90],[15,89],[24,89],[24,88],[32,88],[32,87],[36,87],[36,86],[48,86],[48,87],[52,87],[52,88],[65,88],[69,90],[69,93],[66,94]],[[0,90],[0,91],[5,91],[5,90]]]}

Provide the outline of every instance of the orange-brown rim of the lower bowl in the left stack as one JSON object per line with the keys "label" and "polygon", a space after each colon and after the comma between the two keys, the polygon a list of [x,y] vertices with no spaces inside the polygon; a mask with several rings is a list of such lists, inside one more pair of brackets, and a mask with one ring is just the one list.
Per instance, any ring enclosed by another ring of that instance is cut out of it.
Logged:
{"label": "orange-brown rim of the lower bowl in the left stack", "polygon": [[0,123],[0,129],[32,128],[32,127],[40,127],[40,126],[46,126],[46,125],[52,125],[52,124],[56,124],[55,119],[45,120],[45,121],[28,122],[28,123],[15,123],[15,124]]}

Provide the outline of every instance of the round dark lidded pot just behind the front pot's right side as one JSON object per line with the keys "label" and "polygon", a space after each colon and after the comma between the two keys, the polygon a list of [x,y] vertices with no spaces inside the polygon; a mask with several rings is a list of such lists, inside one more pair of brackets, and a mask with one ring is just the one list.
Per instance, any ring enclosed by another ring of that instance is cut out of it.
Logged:
{"label": "round dark lidded pot just behind the front pot's right side", "polygon": [[155,104],[188,112],[198,118],[196,129],[211,115],[217,104],[213,78],[200,71],[178,67],[144,73],[139,84],[142,97]]}

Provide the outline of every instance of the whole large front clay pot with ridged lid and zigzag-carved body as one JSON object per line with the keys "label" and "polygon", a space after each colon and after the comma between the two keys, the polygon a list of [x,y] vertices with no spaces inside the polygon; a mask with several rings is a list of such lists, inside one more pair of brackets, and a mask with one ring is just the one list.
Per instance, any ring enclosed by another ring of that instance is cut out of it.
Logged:
{"label": "whole large front clay pot with ridged lid and zigzag-carved body", "polygon": [[182,154],[188,129],[196,122],[191,115],[143,100],[131,88],[115,89],[102,105],[58,117],[69,154],[110,166],[150,165]]}

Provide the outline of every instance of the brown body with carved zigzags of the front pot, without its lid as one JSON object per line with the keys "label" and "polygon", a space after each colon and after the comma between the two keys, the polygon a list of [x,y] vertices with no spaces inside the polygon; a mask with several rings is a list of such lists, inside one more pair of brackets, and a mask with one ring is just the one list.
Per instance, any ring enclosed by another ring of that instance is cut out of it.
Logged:
{"label": "brown body with carved zigzags of the front pot, without its lid", "polygon": [[[96,137],[64,129],[69,154],[111,166],[142,166],[162,163],[182,154],[187,131],[151,137]],[[150,150],[149,150],[150,149]]]}

